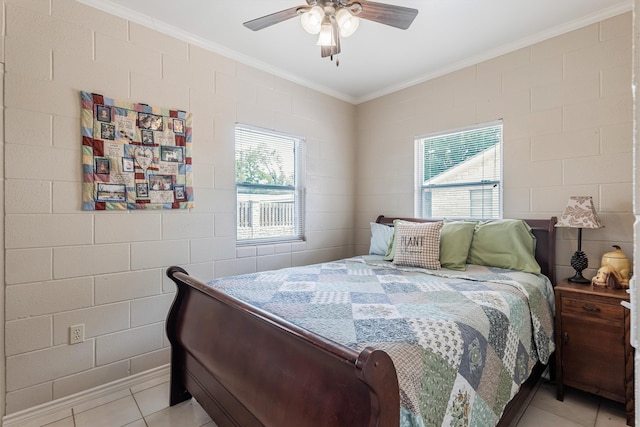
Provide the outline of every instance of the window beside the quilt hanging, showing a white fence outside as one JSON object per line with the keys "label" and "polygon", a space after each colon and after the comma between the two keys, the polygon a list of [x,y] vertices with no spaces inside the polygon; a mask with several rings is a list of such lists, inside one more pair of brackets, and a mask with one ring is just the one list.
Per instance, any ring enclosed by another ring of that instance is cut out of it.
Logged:
{"label": "window beside the quilt hanging, showing a white fence outside", "polygon": [[238,243],[303,238],[302,138],[236,125]]}

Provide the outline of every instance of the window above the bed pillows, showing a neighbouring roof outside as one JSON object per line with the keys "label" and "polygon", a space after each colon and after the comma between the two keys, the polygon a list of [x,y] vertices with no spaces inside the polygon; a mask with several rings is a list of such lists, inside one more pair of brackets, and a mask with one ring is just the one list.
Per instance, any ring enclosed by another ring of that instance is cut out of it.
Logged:
{"label": "window above the bed pillows, showing a neighbouring roof outside", "polygon": [[416,215],[502,216],[502,121],[416,138]]}

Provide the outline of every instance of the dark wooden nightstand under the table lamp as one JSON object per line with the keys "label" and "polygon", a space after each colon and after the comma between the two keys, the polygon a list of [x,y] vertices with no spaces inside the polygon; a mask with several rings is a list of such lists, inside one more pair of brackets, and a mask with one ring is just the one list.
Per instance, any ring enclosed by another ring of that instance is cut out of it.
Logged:
{"label": "dark wooden nightstand under the table lamp", "polygon": [[579,388],[625,404],[627,424],[634,422],[631,313],[624,289],[608,289],[563,280],[556,296],[557,398],[564,386]]}

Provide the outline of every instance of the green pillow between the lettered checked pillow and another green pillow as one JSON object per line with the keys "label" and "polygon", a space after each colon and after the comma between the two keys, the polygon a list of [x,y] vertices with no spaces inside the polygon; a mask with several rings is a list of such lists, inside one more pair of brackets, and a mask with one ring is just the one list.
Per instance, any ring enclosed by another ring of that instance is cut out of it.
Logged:
{"label": "green pillow between the lettered checked pillow and another green pillow", "polygon": [[476,221],[444,221],[440,230],[440,264],[442,268],[464,271]]}

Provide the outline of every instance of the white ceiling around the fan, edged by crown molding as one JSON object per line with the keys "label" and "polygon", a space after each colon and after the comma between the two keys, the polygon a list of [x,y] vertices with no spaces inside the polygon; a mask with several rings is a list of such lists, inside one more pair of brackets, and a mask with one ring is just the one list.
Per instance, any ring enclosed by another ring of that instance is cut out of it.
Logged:
{"label": "white ceiling around the fan, edged by crown molding", "polygon": [[305,0],[77,0],[358,104],[632,9],[632,0],[378,0],[418,9],[408,30],[361,20],[340,66],[299,18],[242,23]]}

